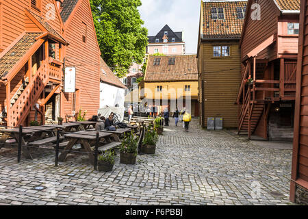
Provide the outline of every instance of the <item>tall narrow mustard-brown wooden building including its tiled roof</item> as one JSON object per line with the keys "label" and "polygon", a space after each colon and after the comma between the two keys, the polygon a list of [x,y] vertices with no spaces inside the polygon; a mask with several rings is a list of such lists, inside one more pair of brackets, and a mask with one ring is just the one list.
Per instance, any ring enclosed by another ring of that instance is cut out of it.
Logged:
{"label": "tall narrow mustard-brown wooden building including its tiled roof", "polygon": [[[246,1],[203,2],[198,37],[198,99],[200,124],[207,118],[223,118],[223,127],[238,127],[235,99],[241,83],[240,34],[244,19],[237,18],[236,8]],[[224,8],[224,19],[211,18],[212,8]],[[214,47],[229,47],[229,55],[214,56]]]}

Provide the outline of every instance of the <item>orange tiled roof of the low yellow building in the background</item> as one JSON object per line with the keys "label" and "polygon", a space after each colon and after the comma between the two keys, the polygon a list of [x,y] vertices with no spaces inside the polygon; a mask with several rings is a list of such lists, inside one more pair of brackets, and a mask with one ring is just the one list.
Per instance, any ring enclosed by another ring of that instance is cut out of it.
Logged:
{"label": "orange tiled roof of the low yellow building in the background", "polygon": [[[157,58],[160,63],[154,65]],[[174,65],[168,64],[170,58],[175,58]],[[196,55],[149,55],[144,81],[198,81]]]}

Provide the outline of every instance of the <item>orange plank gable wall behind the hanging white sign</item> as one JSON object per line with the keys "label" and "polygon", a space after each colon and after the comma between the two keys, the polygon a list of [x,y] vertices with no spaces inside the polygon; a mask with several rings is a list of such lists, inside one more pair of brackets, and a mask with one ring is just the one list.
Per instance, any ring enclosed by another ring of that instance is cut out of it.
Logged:
{"label": "orange plank gable wall behind the hanging white sign", "polygon": [[[99,47],[92,25],[89,1],[83,0],[71,21],[66,21],[64,37],[70,43],[66,47],[66,66],[76,67],[76,88],[79,89],[79,107],[87,110],[87,118],[99,110]],[[87,25],[86,42],[82,41],[80,27]],[[62,115],[72,115],[72,94],[65,94]],[[78,106],[77,106],[78,107]],[[79,110],[79,107],[76,109]]]}

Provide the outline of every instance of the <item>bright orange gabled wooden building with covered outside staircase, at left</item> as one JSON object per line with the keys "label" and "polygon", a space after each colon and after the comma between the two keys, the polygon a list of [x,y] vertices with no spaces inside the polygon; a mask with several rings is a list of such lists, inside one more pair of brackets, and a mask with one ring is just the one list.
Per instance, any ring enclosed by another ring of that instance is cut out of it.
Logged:
{"label": "bright orange gabled wooden building with covered outside staircase, at left", "polygon": [[[1,125],[97,114],[99,58],[89,0],[0,0]],[[64,65],[76,68],[74,93]]]}

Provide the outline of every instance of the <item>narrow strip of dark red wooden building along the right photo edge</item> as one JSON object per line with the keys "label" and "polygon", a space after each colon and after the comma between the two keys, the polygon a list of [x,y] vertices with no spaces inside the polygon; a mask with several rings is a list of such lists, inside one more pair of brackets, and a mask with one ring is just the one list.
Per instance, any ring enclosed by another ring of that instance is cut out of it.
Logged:
{"label": "narrow strip of dark red wooden building along the right photo edge", "polygon": [[300,5],[290,200],[308,205],[308,1]]}

